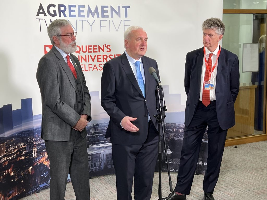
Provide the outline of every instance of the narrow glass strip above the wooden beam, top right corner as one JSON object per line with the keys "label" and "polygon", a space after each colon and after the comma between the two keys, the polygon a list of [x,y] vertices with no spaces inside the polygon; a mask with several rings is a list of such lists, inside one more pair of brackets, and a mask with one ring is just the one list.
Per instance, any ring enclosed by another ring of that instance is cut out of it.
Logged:
{"label": "narrow glass strip above the wooden beam, top right corner", "polygon": [[223,0],[223,9],[266,9],[265,0]]}

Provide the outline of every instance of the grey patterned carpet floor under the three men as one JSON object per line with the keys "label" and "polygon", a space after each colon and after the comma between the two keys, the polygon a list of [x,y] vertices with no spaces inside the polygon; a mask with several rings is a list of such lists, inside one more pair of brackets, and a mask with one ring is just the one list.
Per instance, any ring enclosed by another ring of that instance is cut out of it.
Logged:
{"label": "grey patterned carpet floor under the three men", "polygon": [[[195,175],[188,200],[203,198],[203,175]],[[151,199],[158,199],[158,173],[155,173]],[[171,173],[175,187],[177,174]],[[90,180],[91,200],[115,200],[115,175]],[[162,173],[162,196],[170,193],[168,174]],[[133,197],[133,193],[132,193]],[[225,147],[221,173],[214,190],[217,200],[267,200],[267,141]],[[49,200],[49,189],[22,200]],[[133,198],[134,199],[134,198]],[[71,183],[67,183],[65,200],[75,200]]]}

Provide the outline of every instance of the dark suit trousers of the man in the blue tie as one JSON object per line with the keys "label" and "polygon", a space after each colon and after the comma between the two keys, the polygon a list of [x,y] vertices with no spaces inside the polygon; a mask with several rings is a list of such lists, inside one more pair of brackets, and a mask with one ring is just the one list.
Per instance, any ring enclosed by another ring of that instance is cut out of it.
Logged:
{"label": "dark suit trousers of the man in the blue tie", "polygon": [[[127,134],[127,133],[125,133]],[[158,155],[158,133],[150,123],[148,137],[140,145],[112,144],[112,159],[116,173],[117,200],[149,200]]]}

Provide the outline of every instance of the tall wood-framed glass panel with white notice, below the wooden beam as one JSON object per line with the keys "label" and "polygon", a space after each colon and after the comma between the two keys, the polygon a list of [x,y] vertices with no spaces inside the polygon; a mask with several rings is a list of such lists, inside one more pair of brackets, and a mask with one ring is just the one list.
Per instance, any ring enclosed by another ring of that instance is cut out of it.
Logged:
{"label": "tall wood-framed glass panel with white notice, below the wooden beam", "polygon": [[222,47],[237,54],[240,88],[235,107],[236,125],[227,138],[265,134],[266,14],[223,14]]}

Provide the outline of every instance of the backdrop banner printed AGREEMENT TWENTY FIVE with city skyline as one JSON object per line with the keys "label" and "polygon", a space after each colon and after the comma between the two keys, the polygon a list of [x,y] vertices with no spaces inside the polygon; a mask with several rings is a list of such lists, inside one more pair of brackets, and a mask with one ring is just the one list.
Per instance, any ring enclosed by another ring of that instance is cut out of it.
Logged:
{"label": "backdrop banner printed AGREEMENT TWENTY FIVE with city skyline", "polygon": [[[40,58],[51,48],[47,27],[68,20],[77,32],[77,51],[91,94],[92,121],[87,126],[91,176],[113,174],[112,149],[104,138],[109,116],[100,105],[103,65],[123,54],[124,31],[141,26],[148,35],[146,56],[158,63],[166,112],[168,161],[179,168],[184,133],[184,64],[186,53],[200,48],[202,22],[222,19],[219,1],[5,1],[0,7],[0,199],[19,199],[48,188],[49,159],[41,139],[41,95],[36,81]],[[209,12],[206,12],[208,10]],[[155,82],[156,84],[156,82]],[[204,173],[207,135],[196,173]]]}

